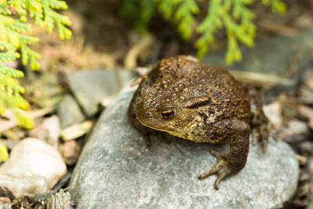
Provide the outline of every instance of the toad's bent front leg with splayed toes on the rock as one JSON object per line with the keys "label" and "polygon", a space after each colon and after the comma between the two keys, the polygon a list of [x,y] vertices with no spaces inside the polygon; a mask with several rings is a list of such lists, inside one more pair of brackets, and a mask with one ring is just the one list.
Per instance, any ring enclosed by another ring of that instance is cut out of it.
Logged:
{"label": "toad's bent front leg with splayed toes on the rock", "polygon": [[228,129],[226,137],[230,139],[230,153],[221,155],[214,150],[210,150],[211,155],[217,158],[218,163],[210,171],[202,173],[199,179],[207,178],[216,173],[218,178],[216,178],[214,187],[218,189],[221,180],[238,173],[245,167],[249,152],[250,125],[245,121],[232,120],[220,121],[214,126],[217,130],[220,127]]}

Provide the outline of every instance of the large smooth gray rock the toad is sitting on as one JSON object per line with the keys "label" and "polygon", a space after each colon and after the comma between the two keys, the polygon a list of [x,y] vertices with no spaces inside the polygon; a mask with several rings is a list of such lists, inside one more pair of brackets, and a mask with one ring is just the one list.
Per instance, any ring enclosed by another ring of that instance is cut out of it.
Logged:
{"label": "large smooth gray rock the toad is sitting on", "polygon": [[217,191],[216,176],[198,175],[216,164],[209,149],[229,146],[154,139],[147,148],[127,118],[132,95],[118,95],[83,148],[70,183],[78,208],[279,208],[294,195],[298,162],[284,142],[271,139],[266,154],[251,146],[246,167]]}

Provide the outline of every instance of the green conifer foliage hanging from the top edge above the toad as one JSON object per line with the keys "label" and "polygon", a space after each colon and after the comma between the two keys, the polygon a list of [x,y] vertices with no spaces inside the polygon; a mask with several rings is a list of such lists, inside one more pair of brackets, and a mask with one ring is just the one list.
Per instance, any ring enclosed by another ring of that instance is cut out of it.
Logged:
{"label": "green conifer foliage hanging from the top edge above the toad", "polygon": [[[143,32],[147,31],[155,10],[159,10],[166,20],[177,26],[177,31],[184,40],[188,40],[195,29],[200,35],[195,42],[199,57],[209,52],[216,31],[224,28],[228,38],[226,62],[231,64],[233,61],[241,61],[239,42],[248,47],[254,45],[255,13],[247,8],[253,0],[207,1],[209,4],[207,16],[198,25],[195,15],[200,13],[200,8],[195,0],[124,0],[121,13],[122,16],[131,19],[136,28]],[[262,0],[262,3],[271,6],[275,13],[283,14],[286,10],[282,0]]]}

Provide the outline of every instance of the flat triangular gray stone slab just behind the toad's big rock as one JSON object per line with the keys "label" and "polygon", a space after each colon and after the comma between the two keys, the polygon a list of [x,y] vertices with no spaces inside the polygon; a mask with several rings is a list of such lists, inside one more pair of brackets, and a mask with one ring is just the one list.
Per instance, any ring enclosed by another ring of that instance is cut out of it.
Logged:
{"label": "flat triangular gray stone slab just behind the toad's big rock", "polygon": [[85,70],[69,75],[68,80],[83,112],[91,118],[102,99],[117,94],[134,76],[131,70]]}

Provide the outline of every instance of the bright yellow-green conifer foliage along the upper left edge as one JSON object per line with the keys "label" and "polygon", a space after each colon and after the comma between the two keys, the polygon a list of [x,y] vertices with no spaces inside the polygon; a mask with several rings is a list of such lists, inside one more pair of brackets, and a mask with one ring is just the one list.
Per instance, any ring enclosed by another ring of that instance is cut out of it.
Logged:
{"label": "bright yellow-green conifer foliage along the upper left edge", "polygon": [[[67,4],[58,0],[0,0],[0,115],[6,107],[10,107],[17,123],[22,127],[33,127],[32,118],[22,111],[29,108],[29,103],[20,95],[25,90],[17,82],[17,78],[23,77],[24,74],[3,65],[3,61],[13,61],[22,56],[24,65],[30,63],[33,70],[40,67],[37,61],[40,54],[28,46],[39,40],[30,36],[32,25],[25,23],[28,15],[38,26],[46,26],[49,33],[56,24],[61,39],[69,39],[72,36],[72,31],[66,27],[71,24],[69,18],[56,13],[54,9],[67,9]],[[20,50],[20,53],[17,50]]]}

